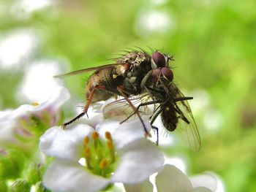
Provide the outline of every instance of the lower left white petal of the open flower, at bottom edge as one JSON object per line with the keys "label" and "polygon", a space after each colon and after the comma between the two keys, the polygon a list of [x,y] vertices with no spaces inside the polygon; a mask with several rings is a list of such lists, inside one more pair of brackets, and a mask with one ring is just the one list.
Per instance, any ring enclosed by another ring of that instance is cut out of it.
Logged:
{"label": "lower left white petal of the open flower, at bottom edge", "polygon": [[109,180],[88,172],[73,161],[53,161],[45,172],[43,182],[52,191],[99,191],[108,185]]}

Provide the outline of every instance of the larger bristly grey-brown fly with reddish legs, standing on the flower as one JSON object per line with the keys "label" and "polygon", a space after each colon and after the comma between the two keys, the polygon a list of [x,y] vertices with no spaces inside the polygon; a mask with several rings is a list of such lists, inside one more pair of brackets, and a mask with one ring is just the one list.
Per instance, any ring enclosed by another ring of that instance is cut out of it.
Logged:
{"label": "larger bristly grey-brown fly with reddish legs, standing on the flower", "polygon": [[157,51],[150,55],[144,50],[132,50],[123,55],[123,57],[116,58],[114,64],[56,75],[55,77],[65,77],[95,71],[86,83],[85,93],[87,102],[83,112],[69,120],[69,122],[64,123],[63,128],[66,128],[70,123],[85,115],[91,103],[105,101],[111,96],[124,96],[129,106],[132,107],[132,110],[140,118],[146,136],[150,136],[140,117],[140,113],[132,104],[132,101],[130,101],[129,96],[138,96],[140,93],[145,92],[151,72],[154,69],[164,67],[169,60],[173,60],[173,58]]}

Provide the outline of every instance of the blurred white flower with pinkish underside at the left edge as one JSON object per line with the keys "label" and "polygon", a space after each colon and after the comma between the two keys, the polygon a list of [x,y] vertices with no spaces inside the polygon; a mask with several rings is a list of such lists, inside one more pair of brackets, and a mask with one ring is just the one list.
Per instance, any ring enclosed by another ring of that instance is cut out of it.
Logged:
{"label": "blurred white flower with pinkish underside at the left edge", "polygon": [[67,99],[69,92],[60,87],[50,99],[41,104],[23,104],[16,110],[0,112],[0,142],[13,142],[15,136],[31,137],[29,128],[38,123],[36,121],[46,123],[47,126],[55,125],[59,118],[59,108]]}

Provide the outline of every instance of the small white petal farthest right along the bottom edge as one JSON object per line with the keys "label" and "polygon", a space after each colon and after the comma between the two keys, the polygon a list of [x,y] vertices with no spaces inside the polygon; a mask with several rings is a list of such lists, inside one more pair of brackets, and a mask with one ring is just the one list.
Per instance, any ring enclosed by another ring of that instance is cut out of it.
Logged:
{"label": "small white petal farthest right along the bottom edge", "polygon": [[217,177],[214,176],[214,174],[206,173],[206,174],[200,174],[196,175],[194,177],[190,178],[193,188],[195,187],[206,187],[211,189],[211,191],[216,191],[217,189]]}

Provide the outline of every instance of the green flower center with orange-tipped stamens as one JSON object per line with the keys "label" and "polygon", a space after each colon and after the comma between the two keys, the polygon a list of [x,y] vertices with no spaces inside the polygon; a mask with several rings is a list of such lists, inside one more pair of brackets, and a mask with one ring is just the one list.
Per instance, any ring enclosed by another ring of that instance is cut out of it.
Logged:
{"label": "green flower center with orange-tipped stamens", "polygon": [[105,140],[99,138],[97,131],[83,140],[83,152],[86,166],[94,174],[109,177],[115,168],[116,150],[110,132],[105,132]]}

